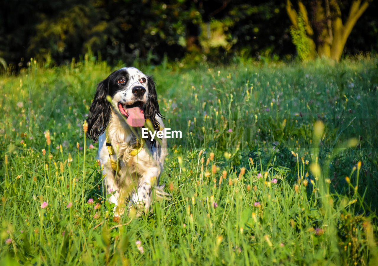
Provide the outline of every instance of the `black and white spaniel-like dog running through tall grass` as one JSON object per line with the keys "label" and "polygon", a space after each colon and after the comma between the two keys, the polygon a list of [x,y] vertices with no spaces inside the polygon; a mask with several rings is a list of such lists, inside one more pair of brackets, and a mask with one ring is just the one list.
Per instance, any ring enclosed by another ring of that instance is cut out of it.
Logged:
{"label": "black and white spaniel-like dog running through tall grass", "polygon": [[[114,216],[135,208],[148,213],[152,198],[169,197],[158,186],[166,138],[141,138],[141,129],[164,128],[155,82],[136,68],[121,68],[102,80],[89,108],[87,137],[99,141],[99,160]],[[155,192],[155,193],[153,193]],[[152,195],[153,194],[153,195]]]}

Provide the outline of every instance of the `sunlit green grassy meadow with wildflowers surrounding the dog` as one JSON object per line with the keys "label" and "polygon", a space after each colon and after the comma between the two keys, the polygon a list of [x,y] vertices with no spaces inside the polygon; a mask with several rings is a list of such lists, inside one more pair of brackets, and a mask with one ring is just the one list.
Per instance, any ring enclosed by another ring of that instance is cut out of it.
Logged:
{"label": "sunlit green grassy meadow with wildflowers surrounding the dog", "polygon": [[83,121],[114,69],[0,77],[0,264],[377,265],[378,58],[154,75],[172,200],[113,221]]}

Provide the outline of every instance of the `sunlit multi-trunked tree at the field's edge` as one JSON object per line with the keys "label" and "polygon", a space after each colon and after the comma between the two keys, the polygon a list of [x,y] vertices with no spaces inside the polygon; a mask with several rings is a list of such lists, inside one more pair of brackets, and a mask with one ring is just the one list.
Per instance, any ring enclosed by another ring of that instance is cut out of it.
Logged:
{"label": "sunlit multi-trunked tree at the field's edge", "polygon": [[290,0],[287,0],[287,14],[292,23],[291,33],[298,54],[303,54],[300,49],[307,46],[308,54],[302,55],[302,58],[319,56],[339,61],[350,32],[371,1],[353,0],[349,15],[343,22],[340,6],[344,5],[340,5],[337,0],[311,1],[311,19],[302,1],[298,1],[296,11]]}

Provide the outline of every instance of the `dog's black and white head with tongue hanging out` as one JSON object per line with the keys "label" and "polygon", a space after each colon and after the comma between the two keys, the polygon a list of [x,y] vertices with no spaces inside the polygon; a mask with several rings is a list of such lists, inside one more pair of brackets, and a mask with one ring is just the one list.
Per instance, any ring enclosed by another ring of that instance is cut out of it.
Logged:
{"label": "dog's black and white head with tongue hanging out", "polygon": [[[112,98],[112,103],[107,96]],[[89,108],[87,137],[97,141],[104,133],[112,108],[116,115],[125,119],[130,127],[144,126],[148,118],[154,129],[159,130],[156,115],[160,114],[155,82],[136,68],[121,68],[114,71],[97,87],[95,98]]]}

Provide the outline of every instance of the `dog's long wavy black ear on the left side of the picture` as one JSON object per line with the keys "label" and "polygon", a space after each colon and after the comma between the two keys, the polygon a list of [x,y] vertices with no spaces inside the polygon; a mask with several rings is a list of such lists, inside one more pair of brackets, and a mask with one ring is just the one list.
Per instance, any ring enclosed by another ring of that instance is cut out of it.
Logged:
{"label": "dog's long wavy black ear on the left side of the picture", "polygon": [[95,142],[104,133],[112,114],[112,105],[106,98],[109,94],[109,81],[105,79],[97,86],[95,98],[91,103],[87,118],[87,137]]}

